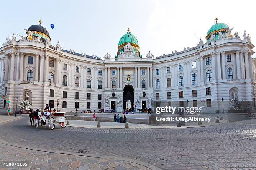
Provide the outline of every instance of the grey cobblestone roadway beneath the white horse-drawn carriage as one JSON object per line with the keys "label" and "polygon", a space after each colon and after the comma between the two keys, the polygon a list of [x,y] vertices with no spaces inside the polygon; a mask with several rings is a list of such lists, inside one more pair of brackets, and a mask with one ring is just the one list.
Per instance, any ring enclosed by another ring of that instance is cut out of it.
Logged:
{"label": "grey cobblestone roadway beneath the white horse-drawn carriage", "polygon": [[0,124],[0,140],[26,146],[137,159],[164,170],[256,170],[256,119],[179,129],[30,127],[28,117]]}

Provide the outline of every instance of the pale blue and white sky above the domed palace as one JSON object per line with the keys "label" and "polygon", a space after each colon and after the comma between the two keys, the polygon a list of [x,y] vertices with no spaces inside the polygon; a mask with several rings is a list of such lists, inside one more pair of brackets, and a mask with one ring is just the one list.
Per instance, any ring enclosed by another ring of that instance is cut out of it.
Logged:
{"label": "pale blue and white sky above the domed palace", "polygon": [[196,46],[200,37],[206,42],[215,18],[234,27],[232,33],[239,32],[242,38],[246,30],[256,44],[256,2],[252,0],[5,0],[1,6],[2,43],[13,32],[25,36],[24,28],[38,25],[41,19],[51,45],[59,41],[65,50],[102,58],[107,52],[116,55],[127,27],[137,37],[141,55],[150,51],[159,56]]}

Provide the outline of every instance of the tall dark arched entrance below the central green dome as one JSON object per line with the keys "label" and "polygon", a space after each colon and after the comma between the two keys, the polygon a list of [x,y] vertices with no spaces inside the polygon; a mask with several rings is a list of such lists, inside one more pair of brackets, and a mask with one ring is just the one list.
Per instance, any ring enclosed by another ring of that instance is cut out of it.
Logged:
{"label": "tall dark arched entrance below the central green dome", "polygon": [[131,85],[125,85],[123,88],[123,109],[126,110],[126,102],[131,101],[131,111],[134,110],[134,89]]}

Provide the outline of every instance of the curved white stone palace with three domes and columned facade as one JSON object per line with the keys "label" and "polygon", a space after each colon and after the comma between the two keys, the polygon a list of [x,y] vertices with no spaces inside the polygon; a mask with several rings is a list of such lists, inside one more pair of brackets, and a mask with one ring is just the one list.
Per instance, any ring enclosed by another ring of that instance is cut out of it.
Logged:
{"label": "curved white stone palace with three domes and columned facade", "polygon": [[[256,60],[254,45],[243,33],[231,34],[228,25],[212,25],[204,43],[154,57],[142,57],[138,40],[130,33],[121,37],[118,53],[104,59],[50,45],[48,31],[32,25],[27,36],[7,37],[0,48],[0,109],[15,110],[16,98],[29,94],[32,108],[59,107],[61,111],[107,110],[125,107],[151,108],[154,102],[184,101],[205,106],[208,112],[229,105],[236,92],[241,101],[255,102]],[[57,106],[57,101],[59,105]],[[128,102],[127,102],[128,101]],[[18,102],[18,104],[19,104]],[[214,103],[214,104],[213,104]],[[176,105],[176,103],[174,103]]]}

